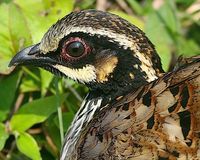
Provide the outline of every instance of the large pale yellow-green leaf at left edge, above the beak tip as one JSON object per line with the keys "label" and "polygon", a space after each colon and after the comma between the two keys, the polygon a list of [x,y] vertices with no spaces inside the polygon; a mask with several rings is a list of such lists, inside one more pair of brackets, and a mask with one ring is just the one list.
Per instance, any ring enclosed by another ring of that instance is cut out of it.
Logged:
{"label": "large pale yellow-green leaf at left edge, above the beak tip", "polygon": [[13,3],[0,5],[0,73],[8,74],[8,63],[19,48],[31,43],[31,36],[20,9]]}

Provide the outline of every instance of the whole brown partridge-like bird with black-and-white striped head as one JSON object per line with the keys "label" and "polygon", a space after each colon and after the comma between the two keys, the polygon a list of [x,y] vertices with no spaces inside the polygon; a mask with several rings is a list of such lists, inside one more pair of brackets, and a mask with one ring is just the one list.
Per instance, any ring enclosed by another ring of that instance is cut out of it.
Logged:
{"label": "whole brown partridge-like bird with black-and-white striped head", "polygon": [[163,73],[136,26],[96,10],[73,12],[19,52],[90,88],[69,128],[61,160],[200,159],[200,56]]}

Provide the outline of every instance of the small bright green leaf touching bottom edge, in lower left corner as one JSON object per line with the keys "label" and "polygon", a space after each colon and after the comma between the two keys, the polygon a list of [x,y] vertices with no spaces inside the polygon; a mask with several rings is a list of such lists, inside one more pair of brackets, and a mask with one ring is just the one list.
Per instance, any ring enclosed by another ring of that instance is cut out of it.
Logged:
{"label": "small bright green leaf touching bottom edge, in lower left corner", "polygon": [[35,139],[28,133],[19,133],[16,137],[17,148],[33,160],[41,160],[39,147]]}

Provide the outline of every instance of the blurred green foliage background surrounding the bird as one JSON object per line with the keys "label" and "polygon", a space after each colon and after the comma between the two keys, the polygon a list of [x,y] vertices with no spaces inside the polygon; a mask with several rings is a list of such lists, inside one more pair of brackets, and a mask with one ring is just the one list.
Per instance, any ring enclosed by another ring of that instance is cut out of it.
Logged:
{"label": "blurred green foliage background surrounding the bird", "polygon": [[165,71],[179,55],[200,53],[200,0],[0,0],[0,159],[58,159],[63,134],[88,89],[41,69],[7,66],[59,18],[91,8],[142,29]]}

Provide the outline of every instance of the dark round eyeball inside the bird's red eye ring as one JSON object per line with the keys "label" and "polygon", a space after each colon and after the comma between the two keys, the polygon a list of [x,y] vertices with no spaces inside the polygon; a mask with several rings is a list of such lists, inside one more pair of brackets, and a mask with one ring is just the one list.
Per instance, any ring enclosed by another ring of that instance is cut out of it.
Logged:
{"label": "dark round eyeball inside the bird's red eye ring", "polygon": [[85,51],[85,48],[81,42],[72,42],[67,47],[67,53],[73,57],[81,56]]}

